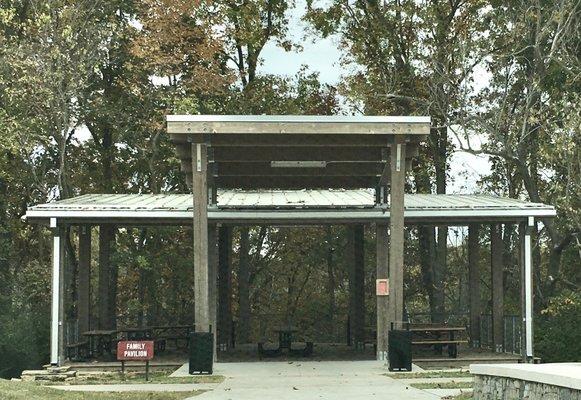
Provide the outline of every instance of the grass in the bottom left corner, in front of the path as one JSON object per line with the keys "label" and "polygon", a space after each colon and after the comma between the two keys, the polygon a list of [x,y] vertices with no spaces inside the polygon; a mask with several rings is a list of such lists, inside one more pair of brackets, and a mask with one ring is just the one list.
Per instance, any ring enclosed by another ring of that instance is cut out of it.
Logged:
{"label": "grass in the bottom left corner, in front of the path", "polygon": [[192,392],[65,392],[33,382],[11,382],[0,379],[0,399],[2,400],[182,400],[203,393]]}

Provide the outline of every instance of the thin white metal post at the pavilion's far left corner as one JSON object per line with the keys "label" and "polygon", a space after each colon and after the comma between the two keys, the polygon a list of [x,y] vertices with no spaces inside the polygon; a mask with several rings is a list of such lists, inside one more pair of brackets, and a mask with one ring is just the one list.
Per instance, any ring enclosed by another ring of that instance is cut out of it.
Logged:
{"label": "thin white metal post at the pavilion's far left corner", "polygon": [[59,323],[60,323],[60,232],[56,218],[50,219],[50,228],[53,231],[52,239],[52,313],[50,329],[50,363],[59,364]]}

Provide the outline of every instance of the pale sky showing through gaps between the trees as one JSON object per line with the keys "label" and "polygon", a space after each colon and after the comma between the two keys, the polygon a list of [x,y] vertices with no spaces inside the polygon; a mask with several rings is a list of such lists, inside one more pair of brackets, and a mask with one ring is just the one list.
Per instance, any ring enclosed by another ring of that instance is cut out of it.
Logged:
{"label": "pale sky showing through gaps between the trees", "polygon": [[[293,76],[303,65],[309,70],[319,72],[323,83],[336,85],[346,71],[340,65],[341,52],[338,49],[338,40],[335,37],[326,39],[315,37],[308,32],[308,27],[301,20],[306,9],[304,0],[297,0],[296,6],[290,9],[288,37],[302,45],[300,52],[286,52],[278,47],[274,41],[267,43],[262,50],[263,63],[259,72],[265,74]],[[484,71],[476,71],[475,88],[481,89],[488,82]],[[459,143],[456,137],[449,135],[456,149]],[[455,151],[450,158],[450,179],[448,193],[474,193],[479,190],[478,180],[490,173],[490,163],[487,156],[474,156],[462,151]]]}

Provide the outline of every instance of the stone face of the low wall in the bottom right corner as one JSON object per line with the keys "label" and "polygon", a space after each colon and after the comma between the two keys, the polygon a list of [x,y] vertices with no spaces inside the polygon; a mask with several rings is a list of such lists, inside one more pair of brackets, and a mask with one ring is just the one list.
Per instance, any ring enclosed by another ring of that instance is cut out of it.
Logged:
{"label": "stone face of the low wall in the bottom right corner", "polygon": [[581,400],[581,390],[502,376],[474,375],[474,400]]}

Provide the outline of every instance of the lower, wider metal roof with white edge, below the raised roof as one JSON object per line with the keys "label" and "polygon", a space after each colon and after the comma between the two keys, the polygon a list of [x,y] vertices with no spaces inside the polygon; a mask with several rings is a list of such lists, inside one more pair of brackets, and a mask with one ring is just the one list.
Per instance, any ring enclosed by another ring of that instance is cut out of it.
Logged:
{"label": "lower, wider metal roof with white edge, below the raised roof", "polygon": [[[190,224],[190,194],[87,194],[29,207],[25,218],[47,223]],[[406,194],[406,223],[520,221],[554,217],[552,206],[490,195]],[[374,222],[389,219],[368,190],[269,190],[218,192],[208,218],[224,223]]]}

